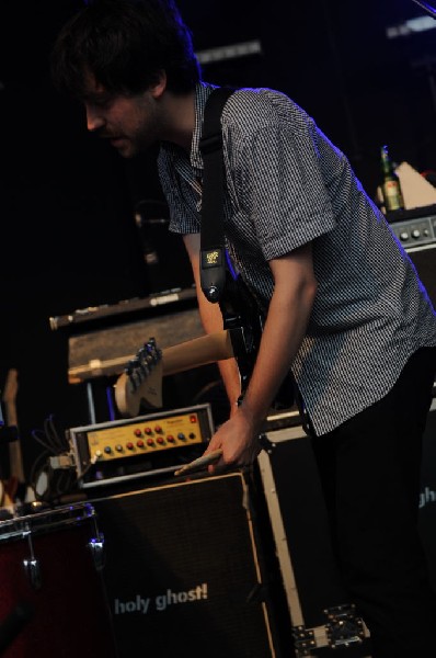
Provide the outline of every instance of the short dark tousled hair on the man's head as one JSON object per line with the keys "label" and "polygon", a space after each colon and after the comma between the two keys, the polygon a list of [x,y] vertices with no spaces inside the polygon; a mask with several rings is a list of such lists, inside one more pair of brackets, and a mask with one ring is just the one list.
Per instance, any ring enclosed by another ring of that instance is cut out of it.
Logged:
{"label": "short dark tousled hair on the man's head", "polygon": [[90,0],[60,30],[51,50],[55,87],[76,98],[87,72],[110,93],[145,91],[165,71],[174,93],[200,78],[191,32],[172,0]]}

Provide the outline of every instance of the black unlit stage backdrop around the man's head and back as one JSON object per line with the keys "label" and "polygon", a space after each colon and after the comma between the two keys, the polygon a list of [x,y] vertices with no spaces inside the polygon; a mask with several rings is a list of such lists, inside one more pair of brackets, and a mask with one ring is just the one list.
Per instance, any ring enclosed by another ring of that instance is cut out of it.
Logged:
{"label": "black unlit stage backdrop around the man's head and back", "polygon": [[[154,154],[122,160],[87,135],[81,109],[50,86],[54,36],[81,5],[0,2],[0,386],[16,367],[27,472],[41,449],[33,429],[51,415],[60,428],[82,419],[82,392],[67,379],[68,333],[53,331],[48,318],[144,297],[157,285],[134,220],[138,201],[161,198]],[[436,32],[386,36],[388,25],[425,15],[412,0],[181,0],[180,8],[197,52],[261,42],[261,54],[205,66],[206,80],[287,92],[346,152],[371,195],[382,144],[398,162],[436,168]],[[165,268],[176,268],[176,249],[171,242]]]}

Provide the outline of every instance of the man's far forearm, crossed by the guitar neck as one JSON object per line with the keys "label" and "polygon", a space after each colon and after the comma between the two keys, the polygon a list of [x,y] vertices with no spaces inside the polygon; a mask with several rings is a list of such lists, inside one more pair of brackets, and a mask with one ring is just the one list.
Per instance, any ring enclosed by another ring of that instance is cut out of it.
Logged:
{"label": "man's far forearm, crossed by the guitar neck", "polygon": [[[214,333],[223,328],[222,315],[218,304],[208,302],[202,291],[200,274],[199,274],[199,250],[200,235],[188,234],[183,236],[183,240],[191,260],[194,281],[197,291],[198,310],[203,327],[206,333]],[[230,402],[230,415],[237,409],[237,401],[241,395],[241,378],[239,375],[238,364],[234,359],[218,362],[219,372],[222,377],[226,393]]]}

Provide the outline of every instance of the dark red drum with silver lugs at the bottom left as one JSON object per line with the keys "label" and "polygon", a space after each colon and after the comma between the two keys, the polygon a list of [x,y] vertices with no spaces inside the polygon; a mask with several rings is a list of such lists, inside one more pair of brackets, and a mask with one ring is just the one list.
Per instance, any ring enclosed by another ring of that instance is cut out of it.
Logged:
{"label": "dark red drum with silver lugs at the bottom left", "polygon": [[116,656],[103,552],[89,503],[0,522],[3,658]]}

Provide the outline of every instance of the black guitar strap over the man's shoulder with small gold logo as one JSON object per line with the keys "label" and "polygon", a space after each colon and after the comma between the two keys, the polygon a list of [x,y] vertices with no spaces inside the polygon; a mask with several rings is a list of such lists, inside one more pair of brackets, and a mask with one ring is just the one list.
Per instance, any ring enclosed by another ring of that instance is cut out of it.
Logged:
{"label": "black guitar strap over the man's shoulder with small gold logo", "polygon": [[200,283],[207,299],[219,302],[226,285],[223,238],[223,158],[221,112],[233,93],[230,87],[214,89],[206,102],[199,150],[204,161]]}

